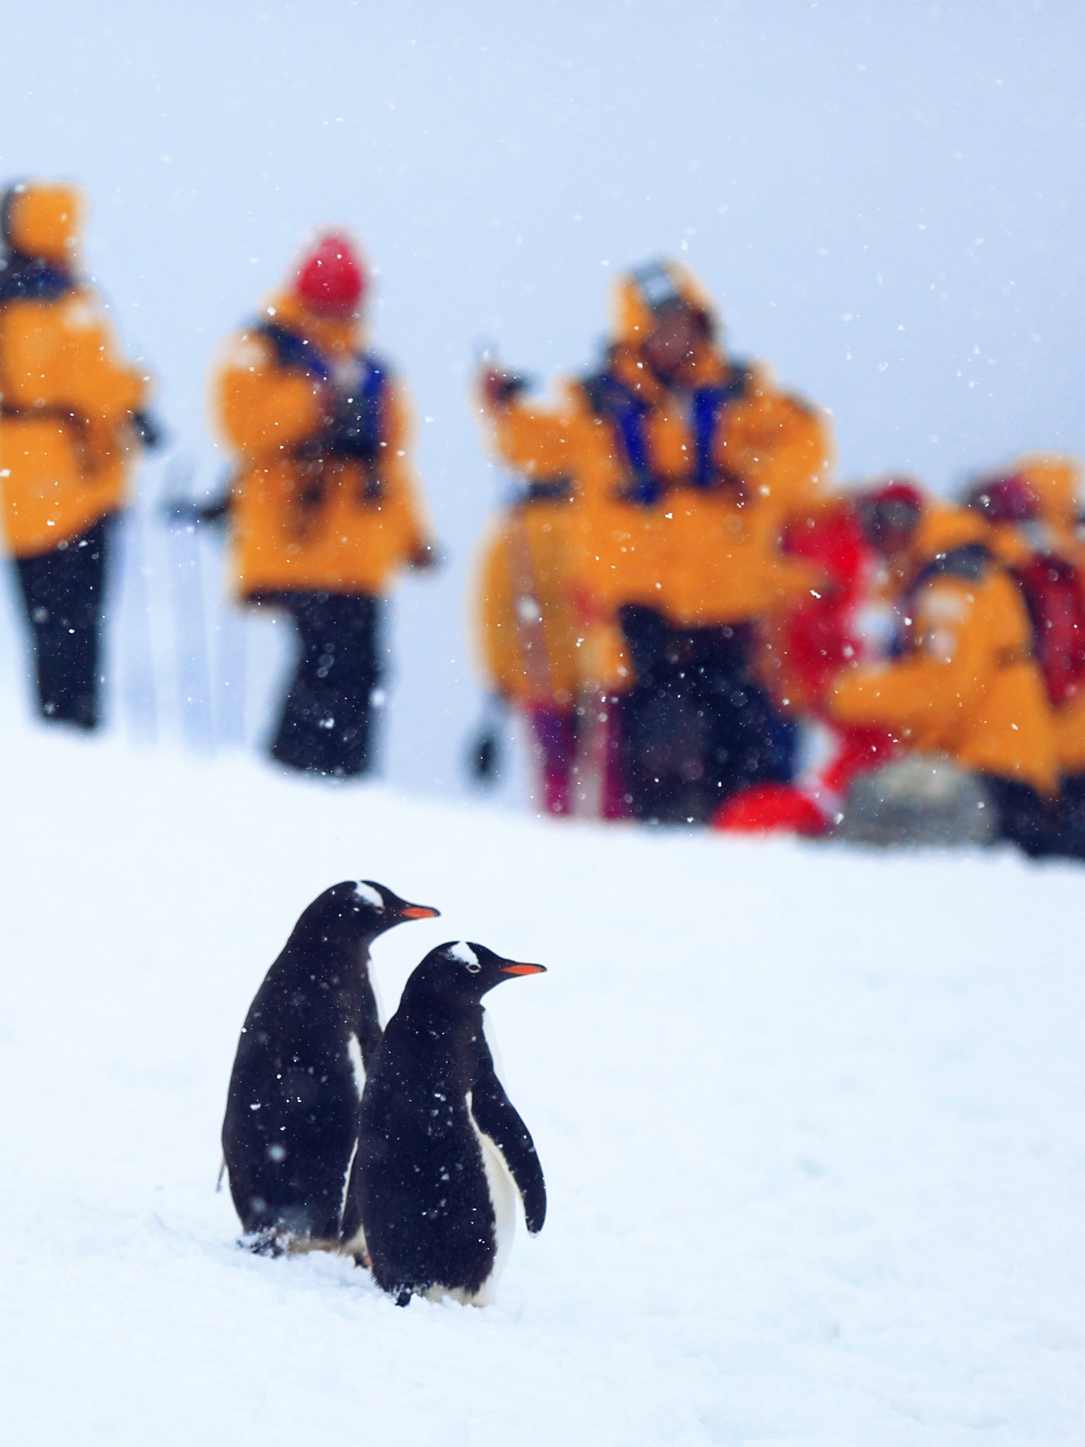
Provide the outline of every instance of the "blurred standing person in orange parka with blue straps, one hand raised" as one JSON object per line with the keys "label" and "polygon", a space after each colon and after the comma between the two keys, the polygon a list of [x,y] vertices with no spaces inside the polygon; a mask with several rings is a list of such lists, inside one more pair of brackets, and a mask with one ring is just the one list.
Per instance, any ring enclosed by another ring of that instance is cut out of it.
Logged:
{"label": "blurred standing person in orange parka with blue straps, one hand raised", "polygon": [[547,428],[561,440],[579,496],[577,602],[586,629],[609,635],[593,651],[609,660],[599,689],[622,693],[634,815],[705,820],[788,768],[786,726],[754,677],[754,628],[812,580],[780,534],[819,496],[829,444],[807,407],[726,357],[683,266],[641,268],[615,300],[602,369],[556,410],[503,398],[499,375],[483,376],[483,405],[519,470]]}

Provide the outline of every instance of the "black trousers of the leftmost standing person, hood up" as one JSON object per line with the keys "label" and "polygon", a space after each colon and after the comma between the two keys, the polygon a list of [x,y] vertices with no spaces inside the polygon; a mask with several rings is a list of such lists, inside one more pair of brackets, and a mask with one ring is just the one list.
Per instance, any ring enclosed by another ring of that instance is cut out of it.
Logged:
{"label": "black trousers of the leftmost standing person, hood up", "polygon": [[101,621],[114,517],[100,518],[51,553],[16,559],[30,625],[38,710],[56,724],[101,722]]}

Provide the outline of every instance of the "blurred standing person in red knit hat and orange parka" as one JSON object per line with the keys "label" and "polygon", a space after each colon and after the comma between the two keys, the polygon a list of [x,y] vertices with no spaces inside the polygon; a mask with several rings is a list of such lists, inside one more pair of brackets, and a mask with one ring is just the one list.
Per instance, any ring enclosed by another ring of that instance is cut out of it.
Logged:
{"label": "blurred standing person in red knit hat and orange parka", "polygon": [[284,609],[298,631],[271,755],[340,778],[373,760],[380,601],[402,567],[435,559],[409,459],[407,389],[366,346],[365,297],[353,240],[320,237],[231,339],[214,381],[237,459],[239,595]]}

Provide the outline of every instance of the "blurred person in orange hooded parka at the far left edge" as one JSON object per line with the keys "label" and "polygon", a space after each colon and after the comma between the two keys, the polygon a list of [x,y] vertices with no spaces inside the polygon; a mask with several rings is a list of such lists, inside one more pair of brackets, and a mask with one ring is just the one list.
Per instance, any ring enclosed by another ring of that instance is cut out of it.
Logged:
{"label": "blurred person in orange hooded parka at the far left edge", "polygon": [[56,182],[0,200],[0,486],[39,712],[93,729],[111,524],[156,430],[146,375],[78,275],[82,213],[82,194]]}

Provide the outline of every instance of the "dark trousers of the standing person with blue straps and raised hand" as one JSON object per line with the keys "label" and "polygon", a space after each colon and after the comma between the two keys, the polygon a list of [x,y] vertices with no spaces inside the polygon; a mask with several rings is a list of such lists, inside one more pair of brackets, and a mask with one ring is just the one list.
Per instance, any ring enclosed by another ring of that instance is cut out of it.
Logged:
{"label": "dark trousers of the standing person with blue straps and raised hand", "polygon": [[706,823],[739,789],[790,780],[793,728],[752,676],[749,627],[676,629],[639,605],[619,618],[637,676],[619,705],[634,818]]}

